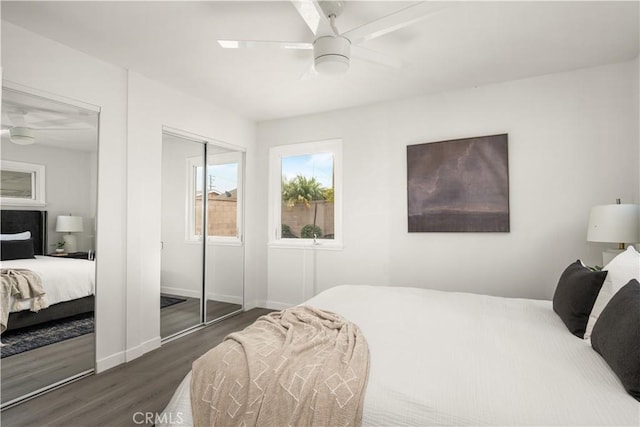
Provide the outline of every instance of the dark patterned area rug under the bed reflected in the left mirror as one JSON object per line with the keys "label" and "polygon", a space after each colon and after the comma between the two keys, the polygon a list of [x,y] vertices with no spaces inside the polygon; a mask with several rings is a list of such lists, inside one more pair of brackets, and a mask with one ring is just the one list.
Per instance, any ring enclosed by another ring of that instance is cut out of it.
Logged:
{"label": "dark patterned area rug under the bed reflected in the left mirror", "polygon": [[93,313],[79,314],[2,334],[2,357],[33,350],[93,332]]}

